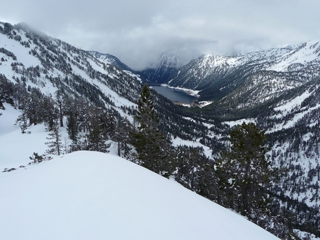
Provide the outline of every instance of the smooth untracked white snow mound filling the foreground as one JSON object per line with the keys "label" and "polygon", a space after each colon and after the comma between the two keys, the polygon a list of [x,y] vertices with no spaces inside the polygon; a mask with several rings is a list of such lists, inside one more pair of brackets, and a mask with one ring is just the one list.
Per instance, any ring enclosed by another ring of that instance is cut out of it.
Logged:
{"label": "smooth untracked white snow mound filling the foreground", "polygon": [[0,173],[1,239],[277,239],[127,160],[73,152]]}

